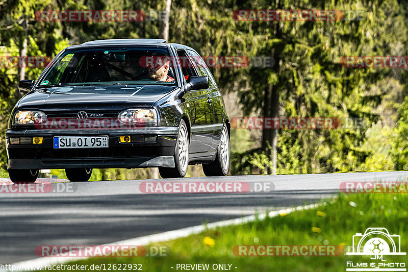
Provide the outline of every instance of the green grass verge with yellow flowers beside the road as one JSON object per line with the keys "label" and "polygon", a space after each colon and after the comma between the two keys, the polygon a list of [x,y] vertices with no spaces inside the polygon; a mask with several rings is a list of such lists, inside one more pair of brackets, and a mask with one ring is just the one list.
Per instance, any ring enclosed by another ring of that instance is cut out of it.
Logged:
{"label": "green grass verge with yellow flowers beside the road", "polygon": [[[390,234],[401,236],[401,251],[406,252],[407,207],[408,195],[405,194],[342,194],[336,200],[323,202],[317,209],[266,218],[240,226],[207,230],[199,235],[159,243],[158,245],[170,247],[171,252],[167,257],[104,257],[74,263],[141,263],[144,271],[176,271],[177,263],[209,263],[210,267],[214,263],[230,263],[232,267],[238,267],[232,268],[233,271],[345,271],[346,261],[370,262],[370,259],[346,255],[238,257],[233,254],[233,248],[239,244],[351,245],[355,233],[364,233],[369,227],[382,227],[387,228]],[[320,232],[314,232],[312,228],[319,228]],[[214,245],[203,243],[205,237],[211,237]],[[385,259],[407,261],[406,256],[387,256]]]}

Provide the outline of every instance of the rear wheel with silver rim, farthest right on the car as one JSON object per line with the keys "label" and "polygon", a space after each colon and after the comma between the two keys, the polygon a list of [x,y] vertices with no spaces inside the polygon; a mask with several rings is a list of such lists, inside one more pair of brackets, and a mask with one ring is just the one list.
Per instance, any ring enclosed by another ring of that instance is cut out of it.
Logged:
{"label": "rear wheel with silver rim, farthest right on the car", "polygon": [[222,128],[221,139],[215,161],[202,164],[202,171],[207,177],[225,176],[230,168],[230,138],[226,126]]}

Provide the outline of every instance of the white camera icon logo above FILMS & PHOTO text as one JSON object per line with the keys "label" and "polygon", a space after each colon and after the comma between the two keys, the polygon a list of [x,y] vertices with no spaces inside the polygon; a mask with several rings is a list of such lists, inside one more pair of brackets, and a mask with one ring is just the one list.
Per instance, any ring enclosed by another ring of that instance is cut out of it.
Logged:
{"label": "white camera icon logo above FILMS & PHOTO text", "polygon": [[347,255],[406,255],[401,252],[401,236],[390,235],[386,228],[368,228],[353,236],[352,252]]}

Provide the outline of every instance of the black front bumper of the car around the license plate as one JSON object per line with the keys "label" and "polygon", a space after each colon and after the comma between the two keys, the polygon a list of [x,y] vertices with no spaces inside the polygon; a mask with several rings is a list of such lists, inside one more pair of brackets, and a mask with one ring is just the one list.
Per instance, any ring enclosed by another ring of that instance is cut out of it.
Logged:
{"label": "black front bumper of the car around the license plate", "polygon": [[[42,144],[7,144],[8,169],[174,167],[177,127],[138,130],[14,130],[10,137],[43,137]],[[54,149],[55,136],[109,136],[108,148]],[[137,135],[140,142],[121,143],[120,135]],[[142,142],[157,136],[156,142]],[[9,141],[7,141],[9,142]]]}

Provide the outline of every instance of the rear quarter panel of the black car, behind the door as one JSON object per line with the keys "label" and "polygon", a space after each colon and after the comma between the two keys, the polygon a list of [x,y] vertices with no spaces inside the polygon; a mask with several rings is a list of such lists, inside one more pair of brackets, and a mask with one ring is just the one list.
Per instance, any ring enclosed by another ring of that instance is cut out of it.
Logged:
{"label": "rear quarter panel of the black car, behind the door", "polygon": [[222,100],[221,92],[219,91],[217,85],[215,84],[215,80],[211,75],[211,72],[208,69],[206,63],[202,60],[202,58],[198,55],[197,52],[188,49],[187,53],[190,55],[194,65],[197,67],[198,76],[208,77],[209,88],[207,89],[207,99],[211,101],[214,119],[213,123],[214,134],[211,150],[214,151],[218,147],[221,131],[224,126],[225,121],[224,102]]}

